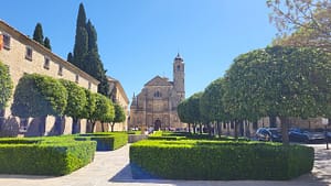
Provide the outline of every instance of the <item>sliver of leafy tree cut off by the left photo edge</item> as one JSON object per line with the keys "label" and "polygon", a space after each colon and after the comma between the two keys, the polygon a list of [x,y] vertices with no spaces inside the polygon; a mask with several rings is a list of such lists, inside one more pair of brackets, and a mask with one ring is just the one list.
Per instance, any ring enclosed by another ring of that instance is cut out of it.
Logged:
{"label": "sliver of leafy tree cut off by the left photo edge", "polygon": [[8,67],[0,62],[0,131],[4,122],[4,108],[11,98],[13,85]]}

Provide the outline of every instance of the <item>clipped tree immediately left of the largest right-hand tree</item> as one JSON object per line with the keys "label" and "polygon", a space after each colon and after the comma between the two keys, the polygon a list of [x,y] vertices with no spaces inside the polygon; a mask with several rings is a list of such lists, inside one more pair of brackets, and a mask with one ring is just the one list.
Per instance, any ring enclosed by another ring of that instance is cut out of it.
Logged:
{"label": "clipped tree immediately left of the largest right-hand tree", "polygon": [[223,95],[224,95],[224,78],[218,78],[212,81],[204,90],[200,99],[200,112],[202,118],[207,121],[217,122],[217,133],[221,138],[221,122],[228,121],[228,114],[224,109]]}

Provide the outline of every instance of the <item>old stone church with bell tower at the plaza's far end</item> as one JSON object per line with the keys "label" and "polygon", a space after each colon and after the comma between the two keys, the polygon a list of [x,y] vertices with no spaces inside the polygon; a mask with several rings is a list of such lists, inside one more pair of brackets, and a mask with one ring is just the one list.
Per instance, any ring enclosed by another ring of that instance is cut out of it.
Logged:
{"label": "old stone church with bell tower at the plaza's far end", "polygon": [[185,128],[177,113],[178,103],[185,98],[184,75],[184,62],[178,54],[173,62],[173,81],[156,76],[145,85],[140,94],[134,95],[129,128],[154,130]]}

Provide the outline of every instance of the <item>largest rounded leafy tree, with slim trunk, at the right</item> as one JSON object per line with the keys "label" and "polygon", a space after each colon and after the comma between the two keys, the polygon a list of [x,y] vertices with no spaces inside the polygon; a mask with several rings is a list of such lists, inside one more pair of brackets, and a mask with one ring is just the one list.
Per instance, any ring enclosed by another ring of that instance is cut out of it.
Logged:
{"label": "largest rounded leafy tree, with slim trunk, at the right", "polygon": [[[281,121],[288,144],[288,118],[330,112],[331,64],[319,50],[267,47],[238,56],[226,73],[225,102],[235,119],[273,113]],[[328,73],[329,72],[329,73]]]}

